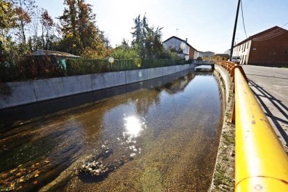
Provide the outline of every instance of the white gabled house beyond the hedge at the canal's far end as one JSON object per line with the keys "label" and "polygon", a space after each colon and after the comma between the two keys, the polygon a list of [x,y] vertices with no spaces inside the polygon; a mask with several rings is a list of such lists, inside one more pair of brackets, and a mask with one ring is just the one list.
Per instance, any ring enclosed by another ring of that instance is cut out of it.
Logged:
{"label": "white gabled house beyond the hedge at the canal's far end", "polygon": [[172,36],[167,40],[163,41],[163,46],[165,49],[170,48],[177,51],[178,55],[181,58],[185,58],[186,61],[188,61],[189,59],[196,59],[199,56],[199,51],[189,45],[187,39],[182,40],[180,38]]}

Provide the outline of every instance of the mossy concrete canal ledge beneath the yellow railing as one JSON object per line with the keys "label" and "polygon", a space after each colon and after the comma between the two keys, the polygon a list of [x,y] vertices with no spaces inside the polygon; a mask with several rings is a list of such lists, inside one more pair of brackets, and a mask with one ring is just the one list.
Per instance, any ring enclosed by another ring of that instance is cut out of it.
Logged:
{"label": "mossy concrete canal ledge beneath the yellow railing", "polygon": [[225,86],[226,107],[210,191],[234,191],[235,126],[227,122],[232,117],[234,104],[234,94],[232,92],[234,84],[229,72],[225,68],[215,65],[215,70],[218,72]]}

